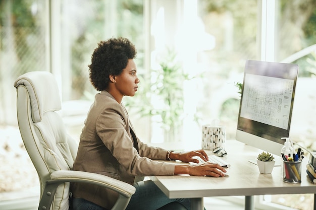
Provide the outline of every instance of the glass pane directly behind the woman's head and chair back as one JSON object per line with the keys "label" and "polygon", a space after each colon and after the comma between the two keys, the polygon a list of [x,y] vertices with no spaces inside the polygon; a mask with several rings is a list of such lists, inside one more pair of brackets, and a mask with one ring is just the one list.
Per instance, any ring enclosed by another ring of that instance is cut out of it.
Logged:
{"label": "glass pane directly behind the woman's head and chair back", "polygon": [[79,141],[96,93],[89,81],[88,65],[97,43],[111,37],[129,38],[137,46],[138,74],[143,73],[143,1],[61,3],[63,113],[70,134]]}

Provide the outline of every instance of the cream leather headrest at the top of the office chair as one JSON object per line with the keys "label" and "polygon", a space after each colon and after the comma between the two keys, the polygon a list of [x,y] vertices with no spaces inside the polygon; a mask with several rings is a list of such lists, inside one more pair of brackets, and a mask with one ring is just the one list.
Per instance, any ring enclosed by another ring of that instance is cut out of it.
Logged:
{"label": "cream leather headrest at the top of the office chair", "polygon": [[49,72],[29,72],[18,77],[14,87],[24,86],[30,97],[33,122],[40,122],[45,112],[61,109],[61,98],[54,75]]}

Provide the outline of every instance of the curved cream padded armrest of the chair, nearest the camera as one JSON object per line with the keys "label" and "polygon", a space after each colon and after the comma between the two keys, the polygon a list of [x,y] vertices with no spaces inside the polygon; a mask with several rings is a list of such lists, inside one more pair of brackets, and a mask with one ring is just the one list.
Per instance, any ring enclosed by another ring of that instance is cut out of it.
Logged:
{"label": "curved cream padded armrest of the chair, nearest the camera", "polygon": [[84,172],[84,171],[69,171],[61,170],[54,171],[50,174],[52,181],[62,182],[84,182],[96,184],[102,187],[112,189],[125,197],[131,197],[135,193],[135,187],[123,181],[104,176],[101,174]]}

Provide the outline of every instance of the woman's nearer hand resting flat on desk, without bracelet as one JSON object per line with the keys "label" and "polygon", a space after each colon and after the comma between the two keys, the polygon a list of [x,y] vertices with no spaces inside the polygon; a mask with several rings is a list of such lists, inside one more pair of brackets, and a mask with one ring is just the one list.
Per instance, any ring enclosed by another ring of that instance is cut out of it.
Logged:
{"label": "woman's nearer hand resting flat on desk, without bracelet", "polygon": [[189,174],[192,176],[225,176],[226,169],[215,163],[202,163],[198,165],[176,165],[175,175]]}

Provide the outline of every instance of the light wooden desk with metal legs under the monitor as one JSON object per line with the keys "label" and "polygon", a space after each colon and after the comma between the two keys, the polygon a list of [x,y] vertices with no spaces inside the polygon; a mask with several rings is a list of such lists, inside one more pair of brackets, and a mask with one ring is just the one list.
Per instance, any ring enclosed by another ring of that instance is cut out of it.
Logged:
{"label": "light wooden desk with metal legs under the monitor", "polygon": [[[260,174],[258,166],[250,163],[262,151],[237,141],[226,143],[228,153],[224,159],[231,164],[228,177],[153,176],[151,180],[169,198],[191,198],[191,207],[203,209],[203,197],[244,195],[245,209],[253,209],[252,195],[316,193],[316,185],[306,174],[307,158],[303,159],[301,183],[285,183],[281,179],[281,167],[275,166],[272,174]],[[213,154],[206,151],[208,155]],[[316,210],[314,196],[314,210]]]}

